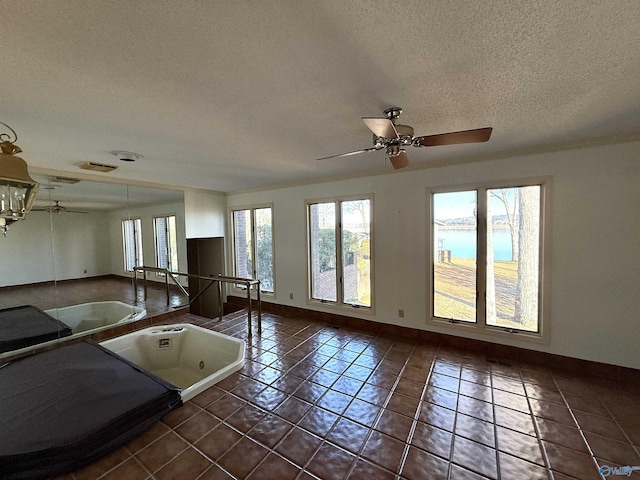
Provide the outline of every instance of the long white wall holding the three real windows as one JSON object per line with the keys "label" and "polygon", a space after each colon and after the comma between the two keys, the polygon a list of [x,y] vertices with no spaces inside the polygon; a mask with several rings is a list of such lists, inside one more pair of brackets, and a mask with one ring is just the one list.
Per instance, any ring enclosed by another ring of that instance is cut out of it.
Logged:
{"label": "long white wall holding the three real windows", "polygon": [[[273,203],[276,303],[323,309],[306,303],[305,199],[373,193],[375,313],[341,313],[640,368],[639,153],[638,142],[598,146],[230,194],[227,201]],[[427,187],[539,176],[551,176],[549,343],[427,324]]]}

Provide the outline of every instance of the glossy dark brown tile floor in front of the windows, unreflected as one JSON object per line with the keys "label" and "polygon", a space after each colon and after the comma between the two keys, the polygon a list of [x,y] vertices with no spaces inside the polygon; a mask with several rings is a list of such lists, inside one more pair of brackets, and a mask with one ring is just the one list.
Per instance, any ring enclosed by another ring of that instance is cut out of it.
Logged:
{"label": "glossy dark brown tile floor in front of the windows, unreflected", "polygon": [[640,385],[304,318],[263,315],[251,338],[242,312],[178,322],[247,340],[244,368],[59,480],[587,480],[640,466]]}

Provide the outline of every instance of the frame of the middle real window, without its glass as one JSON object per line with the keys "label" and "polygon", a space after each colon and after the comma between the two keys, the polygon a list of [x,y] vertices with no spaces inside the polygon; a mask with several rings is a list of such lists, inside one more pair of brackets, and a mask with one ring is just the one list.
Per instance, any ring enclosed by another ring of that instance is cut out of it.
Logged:
{"label": "frame of the middle real window, without its glass", "polygon": [[[343,268],[342,259],[342,202],[356,201],[356,200],[368,200],[369,201],[369,252],[370,252],[370,263],[369,263],[369,291],[370,291],[370,305],[358,305],[352,303],[344,302],[344,292],[342,288],[342,278],[343,278]],[[310,207],[311,205],[322,204],[322,203],[333,203],[335,205],[335,215],[336,215],[336,300],[325,300],[318,299],[313,297],[313,267],[312,267],[312,252],[311,252],[311,213]],[[306,217],[306,230],[307,230],[307,304],[316,305],[316,306],[326,306],[329,308],[336,308],[341,311],[344,310],[358,310],[362,313],[375,313],[375,276],[374,276],[374,264],[375,264],[375,234],[374,234],[374,195],[373,193],[365,193],[360,195],[341,195],[341,196],[332,196],[326,198],[316,198],[316,199],[308,199],[305,200],[305,217]]]}

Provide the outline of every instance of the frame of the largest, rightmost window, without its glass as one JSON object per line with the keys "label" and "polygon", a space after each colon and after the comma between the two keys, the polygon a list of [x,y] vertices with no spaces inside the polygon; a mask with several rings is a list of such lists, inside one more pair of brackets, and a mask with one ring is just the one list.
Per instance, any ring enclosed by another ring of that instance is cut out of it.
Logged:
{"label": "frame of the largest, rightmost window, without its glass", "polygon": [[[486,192],[487,190],[500,188],[516,188],[526,186],[540,186],[540,241],[539,241],[539,265],[538,265],[538,331],[530,332],[486,323]],[[477,271],[476,271],[476,321],[455,321],[434,315],[434,204],[433,195],[438,193],[463,192],[476,190],[477,193]],[[514,339],[522,339],[534,343],[549,343],[549,318],[550,318],[550,198],[551,178],[535,177],[513,180],[500,180],[494,182],[478,182],[465,185],[450,185],[427,188],[428,218],[427,226],[429,239],[427,242],[427,323],[447,331],[473,331],[483,335]]]}

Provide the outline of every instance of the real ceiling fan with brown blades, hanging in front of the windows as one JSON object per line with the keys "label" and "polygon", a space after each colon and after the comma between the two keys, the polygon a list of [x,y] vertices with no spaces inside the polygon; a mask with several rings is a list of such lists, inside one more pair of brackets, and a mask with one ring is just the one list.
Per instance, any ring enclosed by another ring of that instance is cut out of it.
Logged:
{"label": "real ceiling fan with brown blades, hanging in front of the windows", "polygon": [[439,133],[437,135],[423,135],[414,137],[413,127],[396,123],[402,113],[402,108],[391,107],[384,111],[383,117],[362,117],[364,124],[373,132],[373,147],[356,150],[355,152],[341,153],[329,157],[318,158],[326,160],[329,158],[348,157],[360,153],[375,152],[386,149],[387,156],[393,168],[403,168],[409,165],[409,157],[404,147],[413,145],[414,147],[436,147],[439,145],[455,145],[459,143],[486,142],[491,136],[493,128],[476,128],[474,130],[463,130],[461,132]]}

